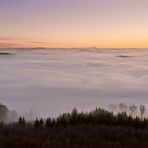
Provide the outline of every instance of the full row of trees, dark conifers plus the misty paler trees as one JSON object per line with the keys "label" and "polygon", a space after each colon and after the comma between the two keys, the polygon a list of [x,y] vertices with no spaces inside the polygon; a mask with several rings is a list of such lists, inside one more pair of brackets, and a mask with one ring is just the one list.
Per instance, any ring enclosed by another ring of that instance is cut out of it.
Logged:
{"label": "full row of trees, dark conifers plus the misty paler trees", "polygon": [[[145,115],[146,107],[144,105],[138,107],[135,105],[127,106],[123,103],[118,105],[110,104],[109,110],[95,108],[90,112],[78,112],[74,108],[71,112],[60,114],[57,118],[48,117],[47,119],[38,119],[32,121],[34,127],[54,127],[79,124],[92,125],[119,125],[132,127],[147,127],[148,118]],[[17,121],[18,120],[18,121]],[[10,122],[11,121],[11,122]],[[25,117],[19,117],[16,111],[9,111],[6,105],[0,103],[0,122],[3,123],[18,123],[26,126]]]}

